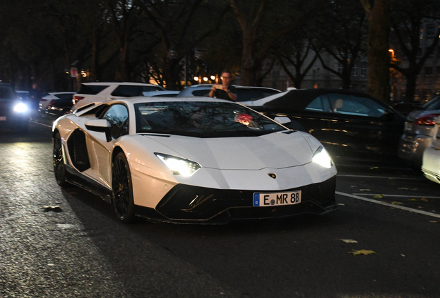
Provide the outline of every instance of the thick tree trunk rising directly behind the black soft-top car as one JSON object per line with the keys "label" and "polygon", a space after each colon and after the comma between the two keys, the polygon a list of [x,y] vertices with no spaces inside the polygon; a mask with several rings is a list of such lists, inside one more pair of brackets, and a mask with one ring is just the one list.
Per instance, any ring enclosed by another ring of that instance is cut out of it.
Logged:
{"label": "thick tree trunk rising directly behind the black soft-top car", "polygon": [[368,20],[367,93],[389,103],[390,0],[360,0]]}

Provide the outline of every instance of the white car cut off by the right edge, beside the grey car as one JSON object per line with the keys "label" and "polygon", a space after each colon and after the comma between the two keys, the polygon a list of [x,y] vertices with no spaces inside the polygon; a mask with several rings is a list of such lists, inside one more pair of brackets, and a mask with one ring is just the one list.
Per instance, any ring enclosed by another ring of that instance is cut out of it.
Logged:
{"label": "white car cut off by the right edge, beside the grey car", "polygon": [[432,129],[430,145],[423,152],[421,170],[426,178],[440,183],[440,116]]}

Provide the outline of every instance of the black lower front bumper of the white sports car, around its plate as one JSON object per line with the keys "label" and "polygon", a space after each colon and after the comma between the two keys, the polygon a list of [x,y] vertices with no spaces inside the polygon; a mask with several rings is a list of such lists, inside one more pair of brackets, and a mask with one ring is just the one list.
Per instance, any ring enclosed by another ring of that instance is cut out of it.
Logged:
{"label": "black lower front bumper of the white sports car, around its plate", "polygon": [[295,190],[302,191],[301,203],[254,207],[254,192],[268,191],[218,190],[178,184],[169,190],[156,209],[136,206],[136,214],[175,223],[227,224],[239,219],[282,218],[304,213],[322,215],[336,209],[336,176],[283,192]]}

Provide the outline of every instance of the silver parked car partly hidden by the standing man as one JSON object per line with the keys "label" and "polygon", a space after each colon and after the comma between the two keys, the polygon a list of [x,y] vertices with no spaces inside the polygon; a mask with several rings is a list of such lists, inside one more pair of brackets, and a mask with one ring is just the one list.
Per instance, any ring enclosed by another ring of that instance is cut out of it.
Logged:
{"label": "silver parked car partly hidden by the standing man", "polygon": [[[273,88],[266,87],[248,87],[248,86],[235,86],[237,89],[237,102],[245,102],[246,105],[251,106],[252,102],[261,99],[263,97],[268,97],[269,95],[273,95],[275,93],[279,93],[281,91]],[[212,84],[201,84],[189,86],[182,90],[178,97],[209,97],[210,90],[212,88]]]}

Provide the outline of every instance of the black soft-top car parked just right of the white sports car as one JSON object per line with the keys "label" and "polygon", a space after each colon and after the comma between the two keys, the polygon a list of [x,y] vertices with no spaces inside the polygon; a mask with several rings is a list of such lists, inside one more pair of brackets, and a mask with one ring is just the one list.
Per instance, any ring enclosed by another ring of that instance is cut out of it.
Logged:
{"label": "black soft-top car parked just right of the white sports car", "polygon": [[340,159],[397,160],[405,117],[364,92],[291,90],[253,108],[271,118],[291,119],[286,126],[316,137],[336,164]]}

